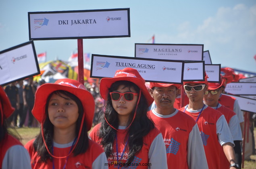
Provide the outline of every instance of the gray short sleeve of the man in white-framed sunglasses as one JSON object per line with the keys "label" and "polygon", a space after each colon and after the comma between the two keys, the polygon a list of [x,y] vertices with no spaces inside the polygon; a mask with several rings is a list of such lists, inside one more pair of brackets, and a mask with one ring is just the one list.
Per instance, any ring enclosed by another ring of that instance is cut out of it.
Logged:
{"label": "gray short sleeve of the man in white-framed sunglasses", "polygon": [[232,143],[233,147],[235,146],[224,115],[221,115],[221,117],[216,122],[216,134],[218,135],[219,143],[221,146],[223,146],[225,143]]}

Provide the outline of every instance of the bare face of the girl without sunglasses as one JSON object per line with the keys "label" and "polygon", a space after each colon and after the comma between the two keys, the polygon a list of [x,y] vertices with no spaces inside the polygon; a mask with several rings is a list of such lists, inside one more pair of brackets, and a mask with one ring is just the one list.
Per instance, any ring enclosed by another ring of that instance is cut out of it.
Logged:
{"label": "bare face of the girl without sunglasses", "polygon": [[48,114],[54,128],[59,129],[75,129],[79,116],[77,103],[64,94],[52,95],[49,101]]}

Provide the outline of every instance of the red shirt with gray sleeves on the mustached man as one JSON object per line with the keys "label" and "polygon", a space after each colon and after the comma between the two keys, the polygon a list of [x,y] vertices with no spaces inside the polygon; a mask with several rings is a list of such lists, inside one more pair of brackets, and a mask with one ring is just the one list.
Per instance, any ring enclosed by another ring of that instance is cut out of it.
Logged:
{"label": "red shirt with gray sleeves on the mustached man", "polygon": [[170,115],[158,114],[154,109],[148,116],[164,138],[169,169],[208,169],[202,138],[193,118],[177,109]]}

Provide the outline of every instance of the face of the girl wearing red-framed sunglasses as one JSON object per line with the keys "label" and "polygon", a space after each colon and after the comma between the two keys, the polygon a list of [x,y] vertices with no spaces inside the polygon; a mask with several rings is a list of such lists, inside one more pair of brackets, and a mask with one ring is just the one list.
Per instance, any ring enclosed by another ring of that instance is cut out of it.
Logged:
{"label": "face of the girl wearing red-framed sunglasses", "polygon": [[[124,88],[124,85],[120,85],[117,90],[113,91],[113,92],[119,92],[119,93],[126,93],[126,92],[132,92],[132,93],[137,93],[133,88],[129,88],[126,87]],[[121,96],[121,98],[117,101],[112,100],[112,105],[114,110],[116,110],[116,112],[119,115],[119,119],[120,117],[122,118],[129,118],[131,112],[133,111],[133,109],[135,108],[136,104],[137,104],[137,100],[138,100],[138,96],[133,96],[133,100],[131,101],[127,101],[125,100],[124,96]]]}

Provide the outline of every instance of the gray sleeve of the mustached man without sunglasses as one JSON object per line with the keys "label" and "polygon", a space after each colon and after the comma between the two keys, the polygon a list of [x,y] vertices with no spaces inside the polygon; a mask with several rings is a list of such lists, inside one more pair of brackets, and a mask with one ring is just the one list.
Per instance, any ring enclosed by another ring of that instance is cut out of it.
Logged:
{"label": "gray sleeve of the mustached man without sunglasses", "polygon": [[189,169],[208,169],[204,145],[198,125],[195,124],[187,142],[187,165]]}

